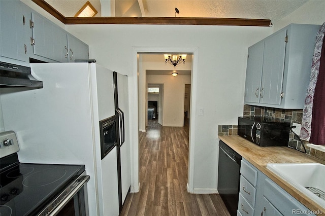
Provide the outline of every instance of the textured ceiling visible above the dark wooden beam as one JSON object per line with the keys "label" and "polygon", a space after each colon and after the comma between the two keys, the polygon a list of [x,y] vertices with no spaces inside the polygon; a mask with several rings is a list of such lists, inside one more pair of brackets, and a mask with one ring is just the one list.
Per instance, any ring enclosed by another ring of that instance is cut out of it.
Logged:
{"label": "textured ceiling visible above the dark wooden beam", "polygon": [[[45,0],[65,17],[74,16],[87,0]],[[102,0],[108,1],[108,0]],[[323,0],[310,0],[323,1]],[[101,16],[101,1],[89,0]],[[115,0],[115,16],[219,17],[279,20],[308,0]]]}

